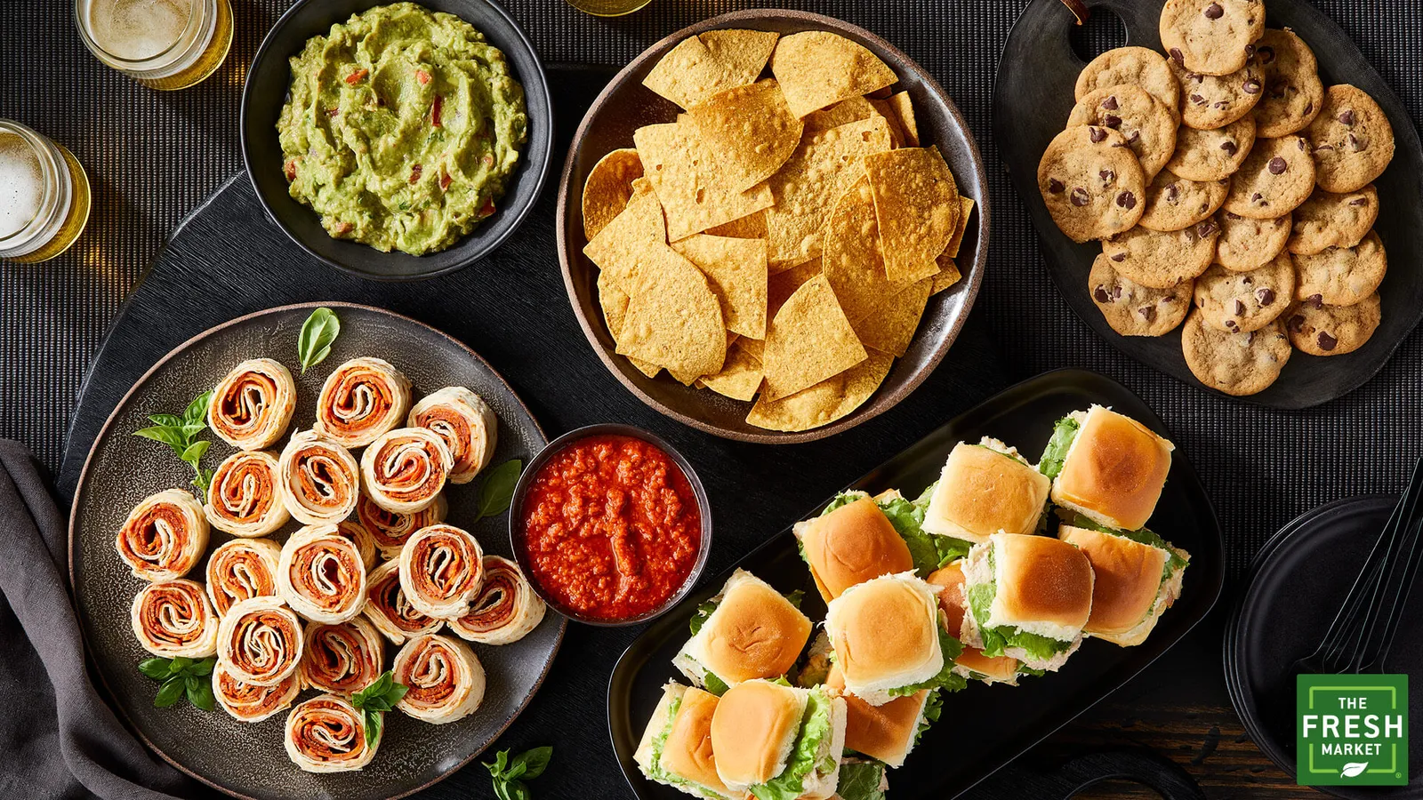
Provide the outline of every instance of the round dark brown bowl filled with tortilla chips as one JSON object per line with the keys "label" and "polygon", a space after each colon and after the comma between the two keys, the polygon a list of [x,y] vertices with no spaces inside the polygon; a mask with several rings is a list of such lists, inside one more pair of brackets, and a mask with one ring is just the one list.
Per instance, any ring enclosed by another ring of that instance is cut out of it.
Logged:
{"label": "round dark brown bowl filled with tortilla chips", "polygon": [[564,282],[645,403],[797,443],[894,407],[943,359],[988,251],[962,115],[904,53],[747,10],[647,48],[583,117],[558,196]]}

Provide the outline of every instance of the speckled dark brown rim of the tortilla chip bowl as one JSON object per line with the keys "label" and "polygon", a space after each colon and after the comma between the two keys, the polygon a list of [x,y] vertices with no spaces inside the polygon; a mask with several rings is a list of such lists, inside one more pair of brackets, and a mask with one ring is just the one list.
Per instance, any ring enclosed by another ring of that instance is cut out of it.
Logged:
{"label": "speckled dark brown rim of the tortilla chip bowl", "polygon": [[[902,384],[894,387],[891,391],[875,391],[869,400],[861,407],[855,409],[845,417],[835,420],[827,426],[821,426],[804,431],[744,431],[721,427],[706,420],[692,417],[672,409],[656,400],[646,391],[638,387],[618,367],[612,354],[598,342],[598,333],[593,330],[593,323],[583,313],[578,303],[578,289],[573,286],[572,260],[569,253],[568,238],[564,232],[568,228],[568,209],[571,202],[571,192],[573,188],[569,185],[573,177],[573,167],[578,162],[578,151],[583,144],[583,138],[588,134],[593,117],[602,111],[603,105],[608,104],[609,97],[618,88],[620,88],[629,77],[652,57],[660,57],[662,51],[670,48],[675,43],[683,38],[699,34],[707,30],[716,30],[729,27],[734,23],[754,23],[758,20],[793,20],[801,23],[811,23],[824,27],[831,31],[850,31],[865,41],[881,48],[881,51],[888,53],[892,60],[901,61],[908,71],[912,71],[919,80],[924,81],[928,91],[938,98],[941,98],[949,111],[949,117],[953,124],[968,134],[970,159],[973,162],[973,175],[980,186],[982,196],[978,199],[979,225],[978,225],[978,246],[973,249],[973,259],[969,268],[963,270],[968,278],[968,286],[963,289],[963,310],[953,319],[949,325],[948,333],[945,333],[943,344],[929,354],[928,362],[914,374],[909,376]],[[988,174],[983,171],[983,155],[979,152],[978,141],[972,135],[972,128],[969,128],[968,121],[959,111],[959,107],[953,102],[939,81],[929,74],[928,70],[919,65],[918,61],[909,58],[898,47],[889,44],[884,38],[867,31],[865,28],[847,23],[844,20],[837,20],[834,17],[827,17],[824,14],[813,14],[810,11],[793,11],[785,9],[747,9],[741,11],[731,11],[729,14],[721,14],[719,17],[712,17],[703,20],[697,24],[687,26],[672,36],[667,36],[657,41],[656,44],[647,47],[636,58],[633,58],[626,67],[618,71],[616,75],[608,85],[598,94],[593,104],[588,108],[583,120],[578,124],[578,131],[573,134],[573,141],[568,148],[568,157],[564,159],[564,172],[558,182],[558,208],[555,216],[555,239],[558,241],[558,260],[564,272],[564,288],[568,292],[569,305],[573,306],[573,316],[578,317],[579,327],[583,329],[583,336],[588,337],[588,343],[592,346],[593,353],[598,354],[608,372],[613,374],[626,389],[632,391],[639,400],[647,404],[650,409],[659,411],[663,416],[672,417],[682,424],[694,427],[700,431],[710,433],[713,436],[720,436],[723,438],[731,438],[737,441],[751,441],[757,444],[800,444],[805,441],[815,441],[818,438],[825,438],[837,433],[850,430],[864,421],[872,420],[879,414],[894,409],[901,400],[909,396],[915,389],[924,383],[925,379],[939,366],[943,357],[948,354],[953,342],[958,340],[959,332],[963,329],[965,320],[968,320],[969,312],[973,309],[973,300],[978,298],[979,286],[983,282],[983,269],[988,266],[988,245],[989,245],[989,196],[988,196]]]}

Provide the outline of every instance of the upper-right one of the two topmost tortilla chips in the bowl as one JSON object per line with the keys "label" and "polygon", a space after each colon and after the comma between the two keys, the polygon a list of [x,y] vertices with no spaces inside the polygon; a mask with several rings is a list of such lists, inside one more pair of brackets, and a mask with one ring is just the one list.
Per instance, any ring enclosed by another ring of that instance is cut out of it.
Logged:
{"label": "upper-right one of the two topmost tortilla chips in the bowl", "polygon": [[781,81],[785,101],[797,117],[899,80],[862,44],[822,30],[781,38],[771,54],[771,73]]}

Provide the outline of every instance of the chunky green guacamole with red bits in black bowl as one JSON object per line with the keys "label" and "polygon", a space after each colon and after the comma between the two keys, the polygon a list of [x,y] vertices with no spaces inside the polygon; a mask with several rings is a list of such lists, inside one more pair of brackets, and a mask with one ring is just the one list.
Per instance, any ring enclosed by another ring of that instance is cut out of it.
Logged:
{"label": "chunky green guacamole with red bits in black bowl", "polygon": [[494,214],[528,114],[482,33],[396,3],[306,43],[276,127],[292,196],[332,236],[423,255]]}

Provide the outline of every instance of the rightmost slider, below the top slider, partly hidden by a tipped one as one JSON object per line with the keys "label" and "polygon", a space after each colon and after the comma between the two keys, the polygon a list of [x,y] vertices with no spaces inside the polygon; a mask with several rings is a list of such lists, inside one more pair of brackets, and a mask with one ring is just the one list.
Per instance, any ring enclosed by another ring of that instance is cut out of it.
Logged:
{"label": "rightmost slider, below the top slider, partly hidden by a tipped one", "polygon": [[1181,596],[1191,554],[1146,528],[1109,531],[1081,517],[1077,521],[1062,525],[1057,538],[1076,545],[1096,575],[1083,632],[1124,648],[1140,645]]}

